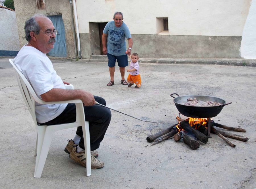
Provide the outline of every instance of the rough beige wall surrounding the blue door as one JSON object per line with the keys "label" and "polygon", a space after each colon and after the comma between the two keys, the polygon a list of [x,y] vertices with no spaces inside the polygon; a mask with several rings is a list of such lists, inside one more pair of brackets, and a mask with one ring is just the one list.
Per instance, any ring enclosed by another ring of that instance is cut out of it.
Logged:
{"label": "rough beige wall surrounding the blue door", "polygon": [[24,25],[25,21],[31,16],[36,13],[47,15],[62,14],[66,35],[67,58],[75,57],[75,44],[71,25],[71,10],[68,0],[45,0],[45,9],[38,9],[35,0],[14,0],[14,5],[20,46],[27,43],[25,39]]}

